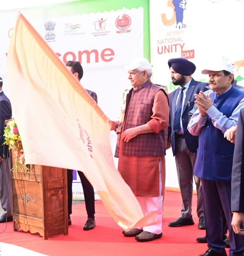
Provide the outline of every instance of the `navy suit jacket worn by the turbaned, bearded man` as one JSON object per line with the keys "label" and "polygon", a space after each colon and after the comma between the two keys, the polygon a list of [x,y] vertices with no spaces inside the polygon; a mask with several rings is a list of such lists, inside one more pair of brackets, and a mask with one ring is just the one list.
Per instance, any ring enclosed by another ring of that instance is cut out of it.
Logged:
{"label": "navy suit jacket worn by the turbaned, bearded man", "polygon": [[[192,110],[194,107],[194,94],[199,93],[200,91],[205,91],[205,87],[208,85],[208,83],[202,83],[199,81],[195,81],[193,78],[191,80],[191,83],[189,85],[189,88],[186,92],[186,98],[184,101],[184,107],[182,112],[182,126],[184,130],[184,137],[187,144],[187,148],[191,152],[196,152],[198,148],[198,136],[192,136],[188,130],[187,130],[187,124],[189,120],[188,113]],[[169,102],[170,102],[170,124],[169,124],[169,131],[168,136],[171,136],[171,145],[172,145],[172,151],[173,155],[175,156],[175,132],[172,129],[174,127],[174,119],[175,119],[175,103],[177,100],[177,95],[179,94],[179,89],[174,90],[169,95]]]}

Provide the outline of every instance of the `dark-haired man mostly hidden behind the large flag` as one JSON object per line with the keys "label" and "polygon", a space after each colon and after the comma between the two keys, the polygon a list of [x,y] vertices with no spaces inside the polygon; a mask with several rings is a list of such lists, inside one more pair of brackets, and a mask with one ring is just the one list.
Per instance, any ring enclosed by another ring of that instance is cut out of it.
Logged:
{"label": "dark-haired man mostly hidden behind the large flag", "polygon": [[[66,66],[69,68],[71,73],[75,76],[75,78],[80,82],[81,78],[83,77],[83,68],[81,66],[81,63],[79,63],[79,61],[68,61]],[[86,90],[86,91],[91,95],[93,100],[95,100],[97,103],[98,98],[96,93],[90,90]],[[83,229],[90,230],[96,226],[94,189],[83,172],[78,171],[78,175],[81,179],[81,185],[84,192],[86,212],[87,212],[87,221]],[[72,224],[71,218],[70,218],[70,215],[72,214],[72,181],[73,181],[73,170],[68,169],[68,214],[69,214],[68,224],[69,225]]]}

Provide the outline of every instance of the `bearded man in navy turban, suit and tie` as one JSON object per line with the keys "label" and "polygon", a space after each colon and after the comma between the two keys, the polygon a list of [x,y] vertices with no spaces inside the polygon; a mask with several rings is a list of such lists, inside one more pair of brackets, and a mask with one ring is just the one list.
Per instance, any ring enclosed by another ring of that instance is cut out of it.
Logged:
{"label": "bearded man in navy turban, suit and tie", "polygon": [[[191,75],[196,70],[194,63],[187,59],[177,58],[168,61],[172,83],[180,85],[178,89],[170,93],[170,126],[169,136],[173,155],[175,156],[179,188],[182,195],[181,216],[176,221],[170,222],[170,227],[193,225],[191,215],[193,193],[193,170],[198,148],[198,137],[192,136],[187,130],[188,113],[194,107],[194,94],[205,90],[208,83],[195,81]],[[197,190],[197,215],[199,217],[199,229],[205,229],[203,212],[203,197],[201,180],[194,176]]]}

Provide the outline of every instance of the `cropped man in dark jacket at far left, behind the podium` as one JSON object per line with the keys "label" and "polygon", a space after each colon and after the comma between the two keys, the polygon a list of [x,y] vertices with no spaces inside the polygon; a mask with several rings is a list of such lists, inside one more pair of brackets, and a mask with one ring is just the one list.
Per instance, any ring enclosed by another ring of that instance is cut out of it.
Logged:
{"label": "cropped man in dark jacket at far left, behind the podium", "polygon": [[10,154],[8,146],[2,144],[5,120],[12,117],[12,107],[10,100],[2,91],[2,84],[0,77],[0,202],[3,209],[0,222],[9,222],[13,220]]}

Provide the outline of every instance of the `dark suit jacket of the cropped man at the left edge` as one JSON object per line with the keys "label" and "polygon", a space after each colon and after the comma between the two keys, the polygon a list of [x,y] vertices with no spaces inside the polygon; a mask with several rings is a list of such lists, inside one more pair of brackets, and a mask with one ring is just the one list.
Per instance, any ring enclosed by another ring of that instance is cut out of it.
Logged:
{"label": "dark suit jacket of the cropped man at the left edge", "polygon": [[5,141],[3,134],[5,128],[5,120],[8,120],[12,117],[12,107],[9,98],[3,93],[0,93],[0,156],[8,154],[8,146],[2,145]]}

